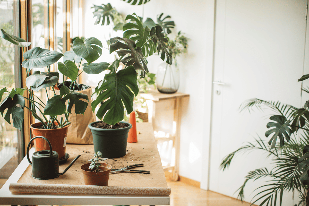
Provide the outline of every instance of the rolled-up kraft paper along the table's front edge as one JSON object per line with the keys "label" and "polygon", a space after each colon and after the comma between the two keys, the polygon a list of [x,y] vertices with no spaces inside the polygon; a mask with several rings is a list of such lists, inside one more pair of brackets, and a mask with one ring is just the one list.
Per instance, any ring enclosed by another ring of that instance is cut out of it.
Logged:
{"label": "rolled-up kraft paper along the table's front edge", "polygon": [[170,195],[169,187],[116,187],[96,185],[10,183],[11,192],[100,194],[100,195]]}

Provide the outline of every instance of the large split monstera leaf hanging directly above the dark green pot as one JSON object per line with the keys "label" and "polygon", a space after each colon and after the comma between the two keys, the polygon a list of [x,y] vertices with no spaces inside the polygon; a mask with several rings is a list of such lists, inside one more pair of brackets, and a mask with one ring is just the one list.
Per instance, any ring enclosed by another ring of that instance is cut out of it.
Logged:
{"label": "large split monstera leaf hanging directly above the dark green pot", "polygon": [[[133,111],[134,96],[138,95],[137,73],[133,66],[122,69],[117,73],[106,74],[104,82],[99,90],[103,91],[97,99],[91,103],[92,111],[102,101],[106,100],[97,112],[97,117],[107,124],[116,124],[123,120],[125,105],[128,114]],[[131,90],[134,92],[132,92]],[[109,99],[108,99],[109,98]],[[122,104],[123,103],[123,104]]]}

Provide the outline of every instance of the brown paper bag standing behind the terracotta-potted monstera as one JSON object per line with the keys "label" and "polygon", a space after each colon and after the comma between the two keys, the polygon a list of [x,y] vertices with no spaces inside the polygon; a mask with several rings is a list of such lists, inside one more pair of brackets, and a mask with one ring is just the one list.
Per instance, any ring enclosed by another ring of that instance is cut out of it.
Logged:
{"label": "brown paper bag standing behind the terracotta-potted monstera", "polygon": [[[83,115],[75,114],[75,104],[73,105],[72,110],[71,110],[72,114],[69,115],[69,121],[71,122],[71,124],[69,125],[69,128],[68,128],[66,143],[92,145],[93,144],[92,133],[91,133],[91,130],[88,128],[88,124],[90,124],[91,122],[95,122],[95,114],[92,112],[92,109],[91,109],[92,90],[91,88],[89,88],[89,89],[85,89],[85,90],[81,90],[77,92],[86,94],[88,96],[89,103]],[[59,95],[59,94],[60,94],[60,90],[56,90],[56,95]],[[87,102],[86,99],[81,99],[81,100]],[[66,119],[64,115],[61,115],[61,116],[59,115],[57,117],[57,120],[60,121],[61,117],[63,117],[64,120]]]}

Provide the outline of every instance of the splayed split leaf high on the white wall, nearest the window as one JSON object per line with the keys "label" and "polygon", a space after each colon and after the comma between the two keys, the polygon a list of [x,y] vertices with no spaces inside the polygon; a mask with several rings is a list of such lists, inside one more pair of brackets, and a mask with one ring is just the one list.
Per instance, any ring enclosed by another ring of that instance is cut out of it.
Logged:
{"label": "splayed split leaf high on the white wall, nearest the window", "polygon": [[106,19],[106,25],[109,25],[111,21],[114,20],[113,13],[115,13],[115,10],[113,9],[112,5],[108,3],[107,5],[102,4],[102,6],[96,6],[93,5],[92,8],[95,8],[95,11],[93,13],[93,18],[96,17],[95,25],[99,24],[102,19],[102,26],[105,24]]}

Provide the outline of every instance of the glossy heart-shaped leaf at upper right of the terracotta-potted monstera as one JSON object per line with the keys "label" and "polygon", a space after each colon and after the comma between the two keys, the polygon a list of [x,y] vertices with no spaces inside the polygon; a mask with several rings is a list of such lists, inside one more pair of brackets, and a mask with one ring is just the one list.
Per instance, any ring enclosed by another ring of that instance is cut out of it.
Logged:
{"label": "glossy heart-shaped leaf at upper right of the terracotta-potted monstera", "polygon": [[102,55],[102,47],[102,42],[94,37],[86,39],[85,42],[79,38],[75,39],[72,46],[74,53],[86,59],[88,65]]}

